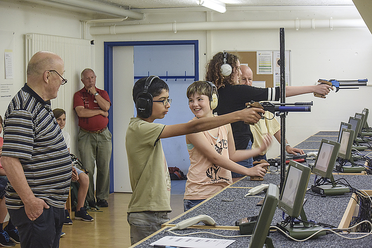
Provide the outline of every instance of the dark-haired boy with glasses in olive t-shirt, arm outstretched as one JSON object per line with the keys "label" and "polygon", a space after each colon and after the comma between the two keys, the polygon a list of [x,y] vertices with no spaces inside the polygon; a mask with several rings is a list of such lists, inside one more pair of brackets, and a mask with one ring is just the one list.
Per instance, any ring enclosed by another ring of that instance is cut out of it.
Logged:
{"label": "dark-haired boy with glasses in olive t-shirt, arm outstretched", "polygon": [[144,77],[133,87],[137,117],[130,120],[125,147],[133,190],[127,220],[131,228],[131,244],[139,242],[169,221],[170,177],[161,138],[198,133],[235,121],[256,123],[263,110],[244,109],[222,116],[206,117],[192,122],[163,125],[170,108],[168,85],[157,76]]}

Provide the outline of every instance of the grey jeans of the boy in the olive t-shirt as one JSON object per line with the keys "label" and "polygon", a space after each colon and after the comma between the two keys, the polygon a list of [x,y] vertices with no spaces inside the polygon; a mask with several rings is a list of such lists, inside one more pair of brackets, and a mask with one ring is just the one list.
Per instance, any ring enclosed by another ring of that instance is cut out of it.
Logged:
{"label": "grey jeans of the boy in the olive t-shirt", "polygon": [[131,227],[131,245],[134,245],[161,229],[169,221],[169,217],[166,211],[143,211],[128,213],[127,221]]}

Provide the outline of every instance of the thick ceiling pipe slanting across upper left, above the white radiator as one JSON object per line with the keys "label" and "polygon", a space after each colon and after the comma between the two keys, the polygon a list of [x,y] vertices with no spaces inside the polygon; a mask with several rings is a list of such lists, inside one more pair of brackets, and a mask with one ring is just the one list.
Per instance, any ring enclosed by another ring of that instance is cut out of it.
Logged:
{"label": "thick ceiling pipe slanting across upper left, above the white radiator", "polygon": [[115,16],[115,17],[129,17],[136,20],[143,20],[144,14],[140,12],[131,11],[128,9],[122,9],[120,7],[115,7],[107,4],[102,4],[99,2],[88,1],[88,0],[26,0],[28,2],[34,2],[38,4],[43,4],[46,6],[63,8],[69,11],[78,12],[97,12],[100,14]]}

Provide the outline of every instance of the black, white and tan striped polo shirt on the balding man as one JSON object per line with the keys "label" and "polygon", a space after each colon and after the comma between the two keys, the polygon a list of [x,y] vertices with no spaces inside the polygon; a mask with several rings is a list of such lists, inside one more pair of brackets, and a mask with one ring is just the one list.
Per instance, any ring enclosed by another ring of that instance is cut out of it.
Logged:
{"label": "black, white and tan striped polo shirt on the balding man", "polygon": [[[2,156],[20,160],[36,197],[63,208],[69,195],[72,162],[50,101],[44,101],[25,84],[10,102],[3,127]],[[5,199],[8,208],[24,206],[10,184]]]}

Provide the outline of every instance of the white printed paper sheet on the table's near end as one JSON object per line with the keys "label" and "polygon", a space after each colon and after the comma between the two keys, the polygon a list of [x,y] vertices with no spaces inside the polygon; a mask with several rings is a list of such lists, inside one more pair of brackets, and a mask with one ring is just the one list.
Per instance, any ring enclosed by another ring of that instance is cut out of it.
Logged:
{"label": "white printed paper sheet on the table's near end", "polygon": [[234,243],[235,240],[230,239],[209,239],[198,237],[175,237],[166,236],[158,241],[153,242],[150,246],[171,246],[179,248],[226,248]]}

